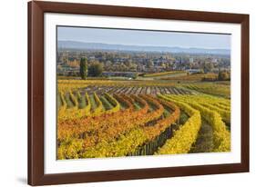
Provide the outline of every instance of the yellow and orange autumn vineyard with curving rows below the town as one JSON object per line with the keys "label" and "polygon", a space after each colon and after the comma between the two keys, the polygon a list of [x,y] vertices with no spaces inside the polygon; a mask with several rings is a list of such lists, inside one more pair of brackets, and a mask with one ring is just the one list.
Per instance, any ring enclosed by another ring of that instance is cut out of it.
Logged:
{"label": "yellow and orange autumn vineyard with curving rows below the town", "polygon": [[230,152],[229,89],[58,81],[57,159]]}

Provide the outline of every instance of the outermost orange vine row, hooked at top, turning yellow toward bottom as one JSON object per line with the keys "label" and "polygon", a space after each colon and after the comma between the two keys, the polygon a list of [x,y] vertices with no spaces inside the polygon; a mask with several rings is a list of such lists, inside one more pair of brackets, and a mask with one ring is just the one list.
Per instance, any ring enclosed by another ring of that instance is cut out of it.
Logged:
{"label": "outermost orange vine row, hooked at top, turning yellow toward bottom", "polygon": [[[148,102],[155,103],[157,101],[148,95],[143,95],[142,97],[147,99]],[[139,150],[139,146],[142,146],[143,144],[148,144],[146,145],[148,151],[145,151],[145,153],[150,152],[150,150],[153,149],[154,144],[156,144],[156,142],[153,141],[155,141],[155,139],[158,141],[164,140],[163,136],[166,133],[163,132],[169,129],[169,126],[179,119],[179,107],[169,102],[162,103],[174,111],[167,118],[158,120],[154,125],[144,125],[134,128],[130,132],[121,135],[117,141],[98,143],[95,147],[91,147],[91,149],[88,149],[83,153],[82,157],[126,156],[128,154],[136,153]],[[152,148],[149,149],[150,146]]]}

